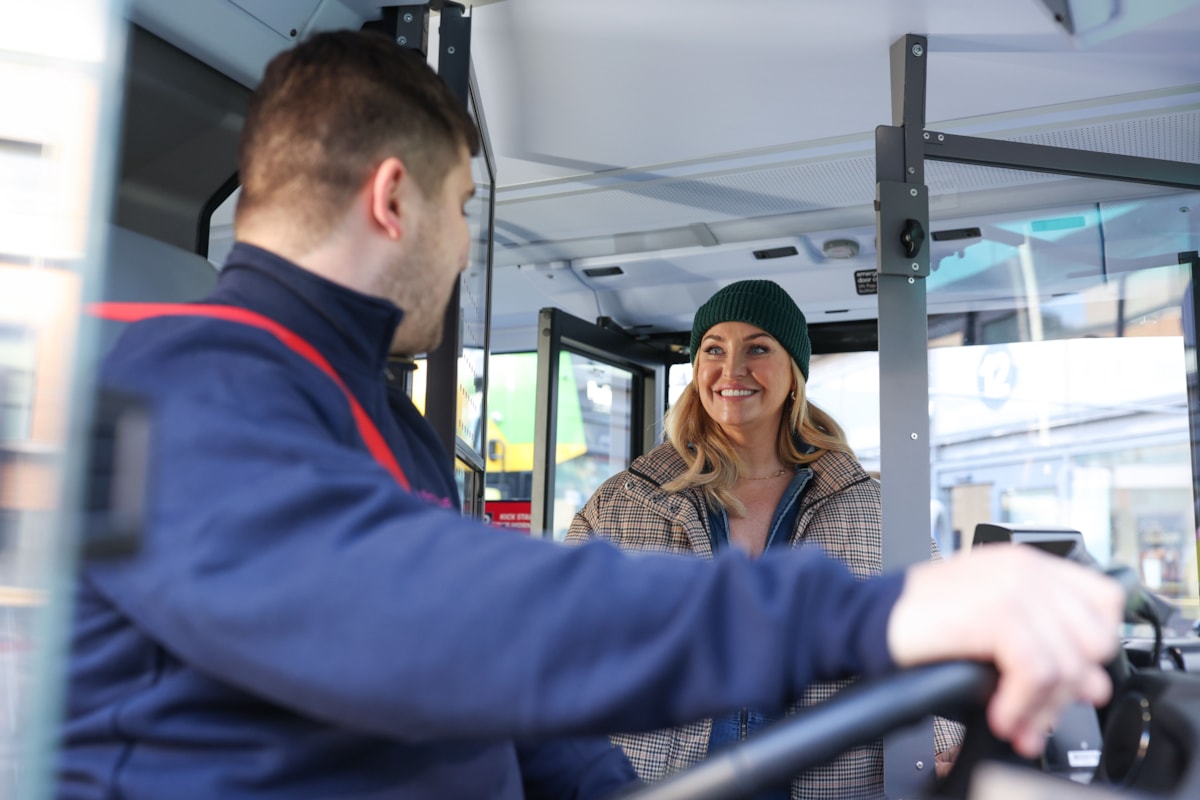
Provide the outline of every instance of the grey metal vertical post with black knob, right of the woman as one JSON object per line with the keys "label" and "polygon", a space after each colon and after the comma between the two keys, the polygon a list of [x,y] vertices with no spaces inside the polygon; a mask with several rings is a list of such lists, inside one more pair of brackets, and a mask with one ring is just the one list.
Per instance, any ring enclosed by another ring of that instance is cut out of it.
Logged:
{"label": "grey metal vertical post with black knob, right of the woman", "polygon": [[[923,36],[908,35],[892,46],[893,127],[876,130],[880,386],[887,387],[880,402],[884,571],[930,554],[926,52]],[[884,739],[888,798],[914,796],[932,777],[931,720]]]}

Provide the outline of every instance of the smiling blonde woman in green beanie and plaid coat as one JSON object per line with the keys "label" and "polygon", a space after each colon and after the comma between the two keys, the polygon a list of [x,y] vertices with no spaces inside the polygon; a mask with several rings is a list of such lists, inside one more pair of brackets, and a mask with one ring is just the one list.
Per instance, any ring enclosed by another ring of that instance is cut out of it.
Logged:
{"label": "smiling blonde woman in green beanie and plaid coat", "polygon": [[[740,281],[713,295],[692,323],[692,380],[667,414],[667,443],[606,481],[575,516],[568,541],[602,536],[708,559],[727,548],[758,558],[817,545],[860,578],[878,575],[880,487],[841,427],[808,402],[811,351],[804,314],[776,283]],[[816,684],[799,704],[829,699],[847,682]],[[658,781],[769,721],[740,709],[613,741],[642,780]],[[958,726],[937,722],[940,762],[960,739]],[[788,796],[883,796],[882,745],[852,750],[760,800]]]}

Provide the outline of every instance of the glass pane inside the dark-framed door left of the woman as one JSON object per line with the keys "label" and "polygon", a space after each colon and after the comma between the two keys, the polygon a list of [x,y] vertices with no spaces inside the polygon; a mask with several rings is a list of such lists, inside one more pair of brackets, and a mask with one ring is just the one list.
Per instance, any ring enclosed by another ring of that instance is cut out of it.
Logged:
{"label": "glass pane inside the dark-framed door left of the woman", "polygon": [[566,350],[558,369],[552,530],[562,540],[592,493],[629,465],[634,375]]}

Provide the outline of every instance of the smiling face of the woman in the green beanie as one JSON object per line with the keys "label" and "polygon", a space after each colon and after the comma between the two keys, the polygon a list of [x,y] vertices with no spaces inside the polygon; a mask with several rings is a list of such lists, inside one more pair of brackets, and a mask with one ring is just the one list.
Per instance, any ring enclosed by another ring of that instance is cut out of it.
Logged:
{"label": "smiling face of the woman in the green beanie", "polygon": [[792,356],[775,337],[746,323],[704,333],[694,380],[701,405],[726,433],[779,428],[792,391]]}

